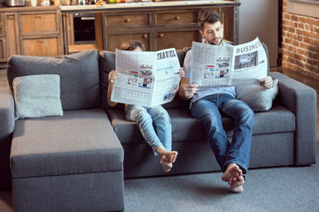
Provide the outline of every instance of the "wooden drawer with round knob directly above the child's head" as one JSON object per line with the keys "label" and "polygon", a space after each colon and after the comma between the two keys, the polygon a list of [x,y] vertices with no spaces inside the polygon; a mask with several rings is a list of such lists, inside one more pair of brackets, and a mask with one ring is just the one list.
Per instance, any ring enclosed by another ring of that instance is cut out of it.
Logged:
{"label": "wooden drawer with round knob directly above the child's head", "polygon": [[106,27],[149,25],[149,15],[105,16]]}

